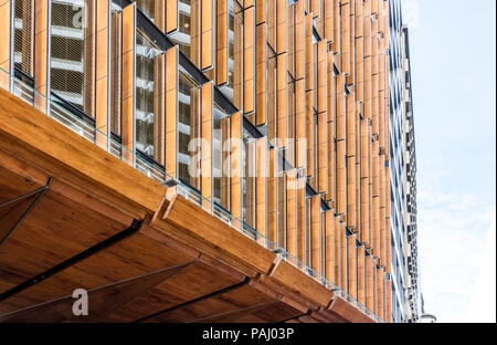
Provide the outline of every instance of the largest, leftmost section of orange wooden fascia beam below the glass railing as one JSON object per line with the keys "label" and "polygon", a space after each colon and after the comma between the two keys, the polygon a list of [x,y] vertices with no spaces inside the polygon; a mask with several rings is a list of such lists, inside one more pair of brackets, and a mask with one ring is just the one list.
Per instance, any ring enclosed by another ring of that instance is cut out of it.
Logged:
{"label": "largest, leftmost section of orange wooden fascia beam below the glass railing", "polygon": [[[57,136],[53,136],[57,133]],[[134,218],[155,212],[166,188],[0,90],[0,150],[102,198]]]}

